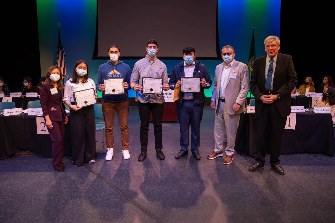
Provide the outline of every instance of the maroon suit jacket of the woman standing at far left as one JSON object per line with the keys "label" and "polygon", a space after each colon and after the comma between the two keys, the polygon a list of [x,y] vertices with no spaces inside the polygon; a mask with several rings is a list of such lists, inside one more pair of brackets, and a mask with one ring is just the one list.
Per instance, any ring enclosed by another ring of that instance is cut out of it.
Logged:
{"label": "maroon suit jacket of the woman standing at far left", "polygon": [[[63,103],[63,91],[57,94],[51,94],[50,89],[54,88],[53,85],[42,84],[40,102],[43,110],[43,117],[49,116],[51,121],[62,121],[65,119],[65,105]],[[62,98],[59,101],[59,93]],[[56,110],[51,110],[54,107]]]}

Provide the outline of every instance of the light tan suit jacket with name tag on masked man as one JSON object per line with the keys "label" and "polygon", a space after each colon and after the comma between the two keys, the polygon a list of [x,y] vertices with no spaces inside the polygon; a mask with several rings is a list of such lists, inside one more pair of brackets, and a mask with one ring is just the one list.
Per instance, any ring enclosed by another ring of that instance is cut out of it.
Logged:
{"label": "light tan suit jacket with name tag on masked man", "polygon": [[[239,61],[232,61],[229,73],[236,73],[236,79],[229,78],[224,87],[224,99],[229,115],[243,113],[246,106],[246,97],[249,90],[249,70],[248,66]],[[215,68],[214,86],[212,91],[212,100],[215,100],[215,111],[217,109],[218,100],[220,97],[221,74],[223,70],[223,63],[220,63]],[[242,105],[238,112],[232,110],[234,103]]]}

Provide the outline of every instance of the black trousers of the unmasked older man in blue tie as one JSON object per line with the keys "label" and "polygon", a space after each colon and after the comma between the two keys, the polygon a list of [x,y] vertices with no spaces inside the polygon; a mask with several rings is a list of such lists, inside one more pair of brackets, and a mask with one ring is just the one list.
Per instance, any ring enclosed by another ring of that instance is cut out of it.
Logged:
{"label": "black trousers of the unmasked older man in blue tie", "polygon": [[[262,111],[256,119],[256,158],[255,160],[261,164],[265,163],[265,152],[271,147],[270,163],[272,165],[280,164],[279,156],[281,150],[281,139],[284,133],[286,117],[282,117],[279,113],[277,105],[263,104]],[[270,130],[270,131],[268,131]],[[269,134],[271,133],[271,135]],[[268,138],[271,139],[268,140]],[[269,142],[269,145],[267,145]]]}

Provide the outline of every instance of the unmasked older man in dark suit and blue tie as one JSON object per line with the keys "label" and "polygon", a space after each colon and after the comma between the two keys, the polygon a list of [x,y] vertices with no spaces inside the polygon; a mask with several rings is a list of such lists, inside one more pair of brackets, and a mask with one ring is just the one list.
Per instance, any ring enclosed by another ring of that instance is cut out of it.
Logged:
{"label": "unmasked older man in dark suit and blue tie", "polygon": [[[290,92],[296,86],[297,78],[292,57],[278,53],[280,40],[277,36],[268,36],[264,40],[266,56],[254,61],[250,78],[251,91],[256,99],[256,157],[255,164],[249,167],[256,171],[264,167],[267,138],[272,139],[270,164],[278,174],[285,171],[280,165],[281,138],[286,124],[286,117],[291,113]],[[270,133],[267,134],[267,127]]]}

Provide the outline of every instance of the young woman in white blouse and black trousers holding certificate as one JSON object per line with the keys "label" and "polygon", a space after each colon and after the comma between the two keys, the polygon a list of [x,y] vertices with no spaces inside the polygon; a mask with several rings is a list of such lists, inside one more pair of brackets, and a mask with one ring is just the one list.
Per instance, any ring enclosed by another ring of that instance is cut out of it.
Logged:
{"label": "young woman in white blouse and black trousers holding certificate", "polygon": [[[85,60],[76,62],[72,77],[64,86],[64,103],[70,107],[70,137],[72,142],[72,161],[75,166],[84,162],[94,163],[95,152],[95,116],[94,106],[80,107],[74,104],[73,92],[94,88],[94,81],[88,76],[88,65]],[[95,93],[95,98],[98,94]]]}

